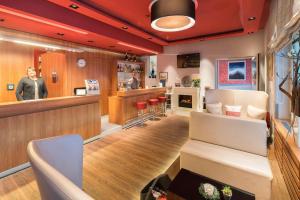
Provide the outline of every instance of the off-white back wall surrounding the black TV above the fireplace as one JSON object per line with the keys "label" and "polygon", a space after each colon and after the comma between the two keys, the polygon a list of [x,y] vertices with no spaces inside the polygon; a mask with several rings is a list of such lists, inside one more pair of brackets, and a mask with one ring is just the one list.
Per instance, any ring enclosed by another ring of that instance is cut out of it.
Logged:
{"label": "off-white back wall surrounding the black TV above the fireplace", "polygon": [[[184,53],[201,54],[200,68],[177,68],[177,55]],[[176,78],[200,73],[202,87],[215,88],[216,59],[256,56],[264,52],[264,32],[241,37],[199,41],[164,48],[157,58],[159,72],[168,72],[167,85],[174,86]]]}

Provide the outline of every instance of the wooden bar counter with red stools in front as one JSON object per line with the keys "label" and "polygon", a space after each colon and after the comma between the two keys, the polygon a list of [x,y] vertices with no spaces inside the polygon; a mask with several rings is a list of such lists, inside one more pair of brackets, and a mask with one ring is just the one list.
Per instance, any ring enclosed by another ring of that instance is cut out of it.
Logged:
{"label": "wooden bar counter with red stools in front", "polygon": [[150,98],[164,96],[165,93],[166,88],[119,91],[116,96],[109,97],[109,121],[115,124],[126,125],[138,116],[136,102],[147,102]]}

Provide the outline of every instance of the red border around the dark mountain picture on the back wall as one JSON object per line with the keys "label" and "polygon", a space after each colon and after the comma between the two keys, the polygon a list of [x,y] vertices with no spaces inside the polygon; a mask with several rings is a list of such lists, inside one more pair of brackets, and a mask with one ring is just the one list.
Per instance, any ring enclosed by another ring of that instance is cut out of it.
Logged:
{"label": "red border around the dark mountain picture on the back wall", "polygon": [[245,59],[246,61],[246,80],[228,80],[228,62],[229,60],[219,60],[219,84],[228,85],[228,84],[251,84],[252,83],[252,60]]}

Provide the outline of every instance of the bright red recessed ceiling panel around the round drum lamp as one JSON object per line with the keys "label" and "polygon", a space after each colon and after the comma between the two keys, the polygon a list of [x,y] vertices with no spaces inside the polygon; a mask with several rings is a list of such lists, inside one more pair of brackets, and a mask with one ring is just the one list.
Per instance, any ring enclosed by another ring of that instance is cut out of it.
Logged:
{"label": "bright red recessed ceiling panel around the round drum lamp", "polygon": [[80,2],[94,6],[104,13],[109,13],[167,41],[243,28],[238,0],[199,0],[196,25],[189,30],[175,33],[159,32],[151,28],[149,0],[118,0],[118,3],[107,0],[81,0]]}

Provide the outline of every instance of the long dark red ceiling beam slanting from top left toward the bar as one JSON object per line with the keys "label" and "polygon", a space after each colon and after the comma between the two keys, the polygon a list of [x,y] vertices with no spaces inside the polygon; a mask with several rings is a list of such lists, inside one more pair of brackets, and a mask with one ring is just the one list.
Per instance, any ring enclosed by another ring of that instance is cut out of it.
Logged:
{"label": "long dark red ceiling beam slanting from top left toward the bar", "polygon": [[[0,0],[0,8],[45,20],[50,23],[55,22],[68,27],[74,27],[88,33],[99,34],[112,38],[116,40],[117,43],[126,42],[158,53],[163,51],[161,45],[45,0],[26,0],[18,2]],[[28,30],[28,32],[30,32],[30,30]],[[80,34],[78,37],[80,37]]]}

